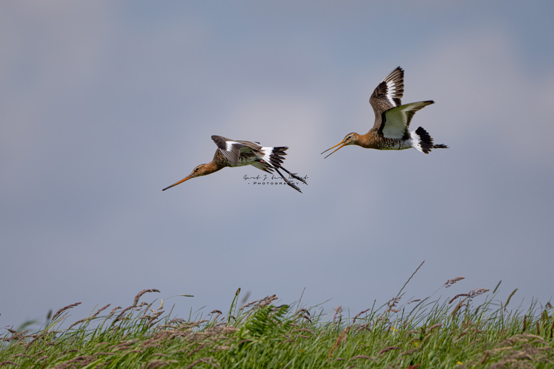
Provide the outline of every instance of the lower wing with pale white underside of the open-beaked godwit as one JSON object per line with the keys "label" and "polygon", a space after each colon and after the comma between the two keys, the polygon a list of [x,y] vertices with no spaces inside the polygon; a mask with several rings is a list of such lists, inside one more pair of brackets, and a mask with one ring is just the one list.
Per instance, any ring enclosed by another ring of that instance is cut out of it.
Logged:
{"label": "lower wing with pale white underside of the open-beaked godwit", "polygon": [[408,139],[410,137],[408,127],[414,114],[433,102],[411,102],[384,111],[381,115],[381,126],[377,130],[377,134],[386,138]]}

